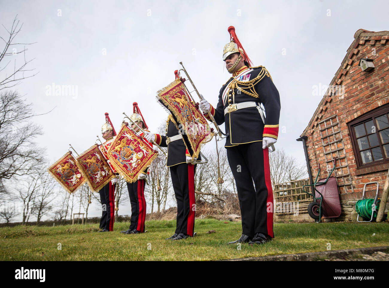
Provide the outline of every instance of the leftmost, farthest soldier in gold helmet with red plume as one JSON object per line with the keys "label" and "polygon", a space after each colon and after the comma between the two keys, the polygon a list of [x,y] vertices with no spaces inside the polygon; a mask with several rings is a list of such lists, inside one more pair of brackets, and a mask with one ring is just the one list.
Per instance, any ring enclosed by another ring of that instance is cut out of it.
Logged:
{"label": "leftmost, farthest soldier in gold helmet with red plume", "polygon": [[[102,145],[100,145],[99,149],[107,160],[112,171],[116,173],[115,169],[110,164],[106,152],[106,150],[108,150],[112,141],[114,140],[114,136],[116,135],[116,131],[114,129],[114,126],[112,125],[108,113],[105,113],[105,123],[101,127],[101,133],[103,134],[103,138],[106,141]],[[108,232],[114,229],[116,182],[116,178],[112,179],[109,183],[105,184],[105,186],[99,191],[100,201],[103,208],[102,217],[100,219],[100,228],[102,229],[102,231],[99,232]]]}

